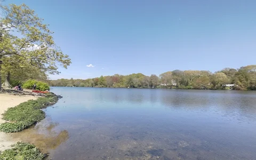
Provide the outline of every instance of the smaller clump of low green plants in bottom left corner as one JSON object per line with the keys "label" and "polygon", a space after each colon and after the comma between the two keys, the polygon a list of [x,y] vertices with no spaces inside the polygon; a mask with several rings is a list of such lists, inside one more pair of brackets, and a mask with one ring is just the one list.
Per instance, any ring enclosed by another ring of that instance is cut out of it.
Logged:
{"label": "smaller clump of low green plants in bottom left corner", "polygon": [[18,142],[17,144],[12,145],[12,147],[14,148],[3,151],[0,154],[0,159],[42,160],[46,157],[35,145],[30,145],[29,143]]}

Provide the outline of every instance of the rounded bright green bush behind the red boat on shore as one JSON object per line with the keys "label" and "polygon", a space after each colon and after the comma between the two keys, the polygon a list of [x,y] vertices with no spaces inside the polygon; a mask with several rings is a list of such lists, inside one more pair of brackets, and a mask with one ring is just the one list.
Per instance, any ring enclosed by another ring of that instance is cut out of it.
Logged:
{"label": "rounded bright green bush behind the red boat on shore", "polygon": [[29,79],[25,83],[23,83],[22,87],[23,89],[32,89],[33,85],[36,83],[36,90],[39,91],[45,91],[45,90],[50,90],[50,85],[41,81],[36,81],[33,79]]}

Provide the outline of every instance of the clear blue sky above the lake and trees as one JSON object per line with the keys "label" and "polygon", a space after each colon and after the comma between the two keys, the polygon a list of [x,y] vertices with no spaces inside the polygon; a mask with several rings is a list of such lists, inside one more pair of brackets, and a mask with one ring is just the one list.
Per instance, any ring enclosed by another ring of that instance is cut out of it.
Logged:
{"label": "clear blue sky above the lake and trees", "polygon": [[255,0],[5,3],[35,10],[70,56],[68,69],[51,79],[256,65]]}

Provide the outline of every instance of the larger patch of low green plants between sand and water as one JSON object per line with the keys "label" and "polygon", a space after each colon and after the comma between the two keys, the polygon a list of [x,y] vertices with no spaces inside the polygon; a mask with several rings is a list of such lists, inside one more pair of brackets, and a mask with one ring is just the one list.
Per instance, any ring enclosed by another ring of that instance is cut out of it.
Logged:
{"label": "larger patch of low green plants between sand and water", "polygon": [[41,110],[42,108],[57,101],[58,98],[54,93],[48,93],[45,97],[29,100],[20,103],[16,107],[7,109],[3,114],[3,119],[9,122],[1,124],[0,131],[9,133],[20,132],[26,129],[45,118],[45,113]]}

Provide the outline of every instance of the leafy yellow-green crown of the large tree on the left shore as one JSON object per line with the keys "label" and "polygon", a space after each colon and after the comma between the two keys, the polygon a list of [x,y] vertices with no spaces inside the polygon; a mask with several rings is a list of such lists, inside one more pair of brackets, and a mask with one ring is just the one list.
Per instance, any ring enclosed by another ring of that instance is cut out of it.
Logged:
{"label": "leafy yellow-green crown of the large tree on the left shore", "polygon": [[[59,74],[59,66],[70,65],[68,55],[55,45],[53,32],[34,10],[25,4],[10,4],[0,9],[0,61],[7,63],[5,60],[9,59],[8,63],[16,62],[17,68],[26,63],[49,74]],[[0,89],[1,84],[0,76]]]}

